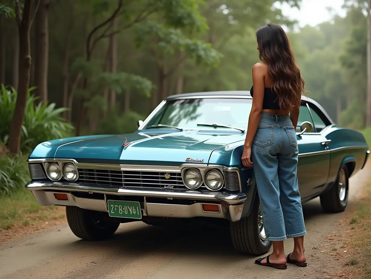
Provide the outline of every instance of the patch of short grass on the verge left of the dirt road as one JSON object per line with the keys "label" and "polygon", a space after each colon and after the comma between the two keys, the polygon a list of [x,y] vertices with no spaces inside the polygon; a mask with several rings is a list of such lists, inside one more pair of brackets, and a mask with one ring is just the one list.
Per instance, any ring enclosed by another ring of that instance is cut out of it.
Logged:
{"label": "patch of short grass on the verge left of the dirt road", "polygon": [[65,217],[60,206],[40,206],[32,193],[24,188],[0,197],[0,236],[13,228],[36,225],[41,221]]}

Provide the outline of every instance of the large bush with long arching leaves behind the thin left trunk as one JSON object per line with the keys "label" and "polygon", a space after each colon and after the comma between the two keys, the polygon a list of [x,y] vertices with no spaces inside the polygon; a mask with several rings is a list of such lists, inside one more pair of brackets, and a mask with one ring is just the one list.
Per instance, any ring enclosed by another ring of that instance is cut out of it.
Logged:
{"label": "large bush with long arching leaves behind the thin left trunk", "polygon": [[[46,140],[68,137],[73,126],[60,116],[66,108],[55,108],[55,103],[35,105],[37,97],[29,89],[22,126],[21,151],[31,152],[39,143]],[[17,92],[13,87],[1,86],[0,90],[0,141],[7,143]]]}

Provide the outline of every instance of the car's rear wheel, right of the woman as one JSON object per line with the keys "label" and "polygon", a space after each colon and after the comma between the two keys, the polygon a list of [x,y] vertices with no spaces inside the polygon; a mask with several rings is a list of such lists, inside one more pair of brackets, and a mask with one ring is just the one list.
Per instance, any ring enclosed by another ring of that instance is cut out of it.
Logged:
{"label": "car's rear wheel, right of the woman", "polygon": [[339,171],[338,178],[334,185],[319,198],[322,209],[328,213],[338,213],[345,210],[349,197],[349,173],[347,166],[343,166]]}

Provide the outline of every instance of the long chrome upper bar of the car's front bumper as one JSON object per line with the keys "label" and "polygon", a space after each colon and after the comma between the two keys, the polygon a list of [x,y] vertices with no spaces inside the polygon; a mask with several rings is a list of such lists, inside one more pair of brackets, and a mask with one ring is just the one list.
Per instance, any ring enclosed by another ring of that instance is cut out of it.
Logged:
{"label": "long chrome upper bar of the car's front bumper", "polygon": [[[247,199],[245,193],[231,194],[227,192],[212,192],[212,191],[196,191],[196,190],[160,190],[160,189],[143,189],[141,187],[130,189],[122,188],[107,188],[107,187],[92,187],[79,185],[78,183],[68,182],[29,182],[26,184],[26,189],[32,192],[39,190],[63,190],[75,192],[92,192],[117,196],[146,196],[146,197],[164,197],[174,199],[195,199],[195,200],[212,200],[234,205],[242,203]],[[103,200],[104,201],[104,200]]]}

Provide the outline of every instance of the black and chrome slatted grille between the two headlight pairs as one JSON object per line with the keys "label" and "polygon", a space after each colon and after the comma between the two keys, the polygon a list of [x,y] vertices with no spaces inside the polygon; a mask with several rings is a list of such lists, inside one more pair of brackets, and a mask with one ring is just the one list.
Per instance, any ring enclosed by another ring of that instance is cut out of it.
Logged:
{"label": "black and chrome slatted grille between the two headlight pairs", "polygon": [[[167,179],[166,174],[170,174]],[[173,186],[174,189],[186,189],[181,173],[177,172],[142,172],[138,170],[101,170],[79,169],[79,181],[89,184],[164,188]]]}

